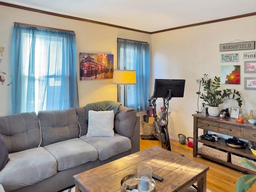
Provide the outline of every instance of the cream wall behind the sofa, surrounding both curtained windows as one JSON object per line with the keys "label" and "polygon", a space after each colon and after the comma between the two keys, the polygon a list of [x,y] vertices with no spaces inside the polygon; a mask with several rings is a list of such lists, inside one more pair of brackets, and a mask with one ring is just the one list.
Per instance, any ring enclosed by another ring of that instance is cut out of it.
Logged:
{"label": "cream wall behind the sofa, surrounding both curtained windows", "polygon": [[0,84],[0,116],[10,114],[11,105],[11,40],[14,22],[73,30],[77,41],[77,72],[80,106],[102,100],[117,100],[117,86],[112,80],[79,80],[79,53],[114,54],[114,68],[117,67],[117,38],[150,42],[150,34],[71,20],[7,6],[0,6],[0,46],[5,47],[1,57],[1,72],[6,72],[4,84]]}

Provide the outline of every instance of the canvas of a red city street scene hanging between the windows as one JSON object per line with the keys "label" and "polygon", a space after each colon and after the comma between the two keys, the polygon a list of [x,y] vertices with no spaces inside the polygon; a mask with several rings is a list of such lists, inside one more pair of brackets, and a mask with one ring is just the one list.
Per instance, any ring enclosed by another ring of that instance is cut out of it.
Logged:
{"label": "canvas of a red city street scene hanging between the windows", "polygon": [[113,54],[80,53],[80,80],[112,79]]}

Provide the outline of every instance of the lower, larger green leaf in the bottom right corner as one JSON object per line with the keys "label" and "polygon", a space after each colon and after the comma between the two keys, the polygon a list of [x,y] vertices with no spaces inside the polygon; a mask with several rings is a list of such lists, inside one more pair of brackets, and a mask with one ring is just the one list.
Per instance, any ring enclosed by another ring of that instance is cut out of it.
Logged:
{"label": "lower, larger green leaf in the bottom right corner", "polygon": [[244,175],[238,178],[236,182],[236,192],[245,192],[256,181],[256,175]]}

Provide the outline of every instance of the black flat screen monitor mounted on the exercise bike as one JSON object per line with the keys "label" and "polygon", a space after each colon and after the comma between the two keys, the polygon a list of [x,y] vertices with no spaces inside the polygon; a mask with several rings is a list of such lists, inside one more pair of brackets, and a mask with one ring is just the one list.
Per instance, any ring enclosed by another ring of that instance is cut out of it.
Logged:
{"label": "black flat screen monitor mounted on the exercise bike", "polygon": [[[183,97],[185,88],[184,79],[155,79],[154,98]],[[169,95],[168,90],[171,90]]]}

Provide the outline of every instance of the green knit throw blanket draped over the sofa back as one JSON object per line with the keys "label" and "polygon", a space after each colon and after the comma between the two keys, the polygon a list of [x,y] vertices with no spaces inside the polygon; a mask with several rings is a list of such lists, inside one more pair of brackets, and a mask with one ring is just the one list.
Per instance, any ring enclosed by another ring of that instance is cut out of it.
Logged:
{"label": "green knit throw blanket draped over the sofa back", "polygon": [[100,101],[95,103],[89,103],[85,106],[86,110],[86,122],[88,122],[88,112],[92,111],[111,111],[114,110],[114,114],[116,115],[119,112],[119,107],[121,103],[116,101]]}

